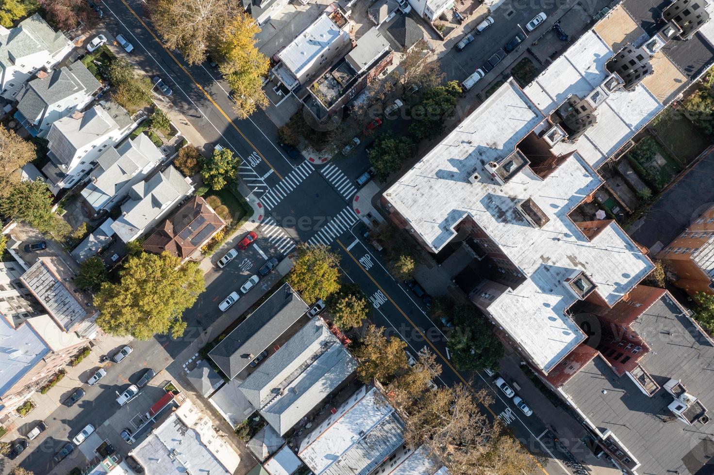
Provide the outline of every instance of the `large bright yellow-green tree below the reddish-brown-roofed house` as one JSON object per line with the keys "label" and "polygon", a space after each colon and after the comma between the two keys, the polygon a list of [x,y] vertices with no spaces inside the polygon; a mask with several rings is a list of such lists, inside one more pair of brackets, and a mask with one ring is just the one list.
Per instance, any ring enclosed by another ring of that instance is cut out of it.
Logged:
{"label": "large bright yellow-green tree below the reddish-brown-roofed house", "polygon": [[104,282],[94,297],[97,325],[117,336],[149,339],[180,330],[183,311],[206,289],[197,262],[181,266],[169,252],[142,252],[126,260],[119,283]]}

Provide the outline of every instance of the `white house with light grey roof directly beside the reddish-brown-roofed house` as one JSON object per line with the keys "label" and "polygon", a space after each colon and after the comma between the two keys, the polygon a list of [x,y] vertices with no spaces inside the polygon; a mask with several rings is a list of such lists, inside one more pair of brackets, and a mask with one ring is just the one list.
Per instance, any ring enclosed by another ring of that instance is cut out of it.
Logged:
{"label": "white house with light grey roof directly beside the reddish-brown-roofed house", "polygon": [[129,199],[121,205],[121,215],[111,229],[122,242],[131,242],[154,228],[176,203],[192,192],[191,180],[170,165],[131,186]]}

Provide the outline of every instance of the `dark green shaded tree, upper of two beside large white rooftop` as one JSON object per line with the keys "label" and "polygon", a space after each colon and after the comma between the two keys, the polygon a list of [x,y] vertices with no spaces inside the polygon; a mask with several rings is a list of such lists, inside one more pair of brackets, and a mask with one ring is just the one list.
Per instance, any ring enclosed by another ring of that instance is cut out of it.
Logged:
{"label": "dark green shaded tree, upper of two beside large white rooftop", "polygon": [[424,91],[421,101],[411,109],[409,132],[417,141],[434,138],[443,131],[444,121],[456,109],[456,98],[460,94],[461,86],[456,81]]}

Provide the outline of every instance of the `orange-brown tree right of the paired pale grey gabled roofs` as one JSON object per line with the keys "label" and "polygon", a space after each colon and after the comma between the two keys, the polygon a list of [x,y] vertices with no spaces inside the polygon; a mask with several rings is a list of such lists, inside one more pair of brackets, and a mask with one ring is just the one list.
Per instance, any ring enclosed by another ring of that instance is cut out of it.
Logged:
{"label": "orange-brown tree right of the paired pale grey gabled roofs", "polygon": [[360,347],[354,352],[359,360],[357,376],[361,382],[367,384],[372,379],[388,382],[395,374],[407,369],[405,348],[403,339],[387,339],[383,327],[370,325]]}

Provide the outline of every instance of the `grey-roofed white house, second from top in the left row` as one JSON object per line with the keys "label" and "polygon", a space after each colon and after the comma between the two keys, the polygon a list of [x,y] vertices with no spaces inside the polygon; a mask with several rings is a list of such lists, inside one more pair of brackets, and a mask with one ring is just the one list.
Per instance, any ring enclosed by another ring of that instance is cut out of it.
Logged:
{"label": "grey-roofed white house, second from top in the left row", "polygon": [[38,71],[17,96],[15,118],[31,136],[45,138],[51,123],[81,111],[101,84],[80,61],[55,71]]}

